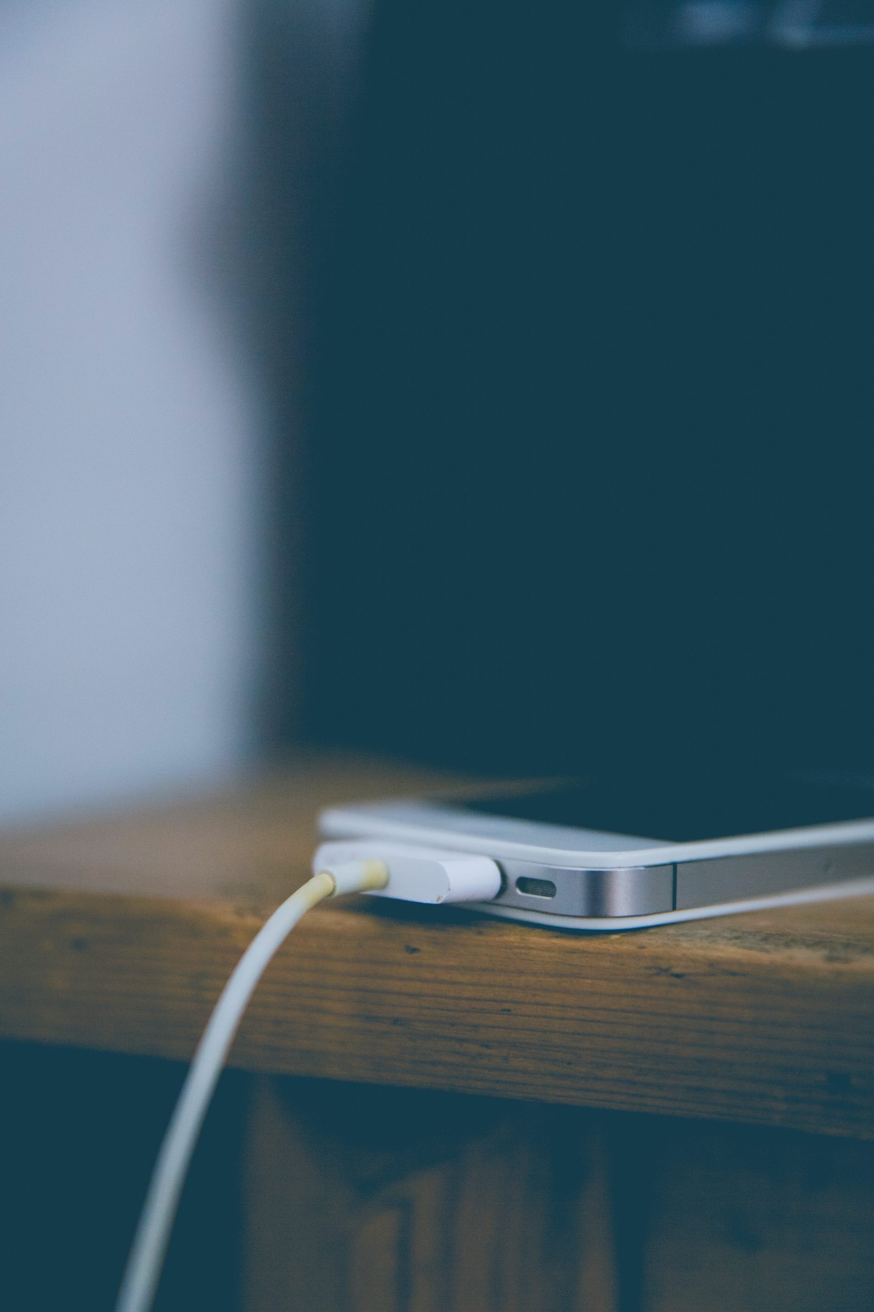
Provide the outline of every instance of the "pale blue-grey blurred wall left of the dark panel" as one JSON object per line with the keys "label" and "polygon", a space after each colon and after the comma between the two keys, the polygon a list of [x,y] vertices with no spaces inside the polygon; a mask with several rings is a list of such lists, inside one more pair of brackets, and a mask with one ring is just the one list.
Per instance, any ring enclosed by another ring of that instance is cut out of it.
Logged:
{"label": "pale blue-grey blurred wall left of the dark panel", "polygon": [[233,0],[0,0],[0,821],[252,749],[258,424],[210,286]]}

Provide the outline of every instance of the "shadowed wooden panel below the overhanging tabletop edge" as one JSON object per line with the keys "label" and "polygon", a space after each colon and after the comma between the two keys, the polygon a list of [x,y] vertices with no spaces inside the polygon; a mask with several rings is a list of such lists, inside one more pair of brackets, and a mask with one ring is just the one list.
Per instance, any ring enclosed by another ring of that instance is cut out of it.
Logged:
{"label": "shadowed wooden panel below the overhanging tabletop edge", "polygon": [[874,1143],[258,1081],[246,1312],[870,1312]]}

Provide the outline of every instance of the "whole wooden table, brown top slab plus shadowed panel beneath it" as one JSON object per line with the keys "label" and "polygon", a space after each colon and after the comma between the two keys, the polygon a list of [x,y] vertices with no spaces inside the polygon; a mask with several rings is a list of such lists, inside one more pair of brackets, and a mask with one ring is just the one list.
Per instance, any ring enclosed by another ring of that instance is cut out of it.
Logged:
{"label": "whole wooden table, brown top slab plus shadowed panel beneath it", "polygon": [[[5,836],[0,1036],[190,1057],[318,807],[439,782],[312,757]],[[320,907],[232,1055],[244,1307],[870,1312],[873,1040],[874,897],[592,937]]]}

